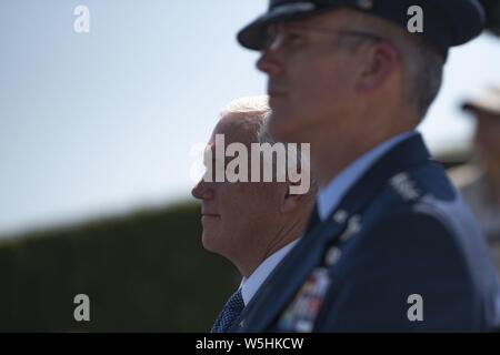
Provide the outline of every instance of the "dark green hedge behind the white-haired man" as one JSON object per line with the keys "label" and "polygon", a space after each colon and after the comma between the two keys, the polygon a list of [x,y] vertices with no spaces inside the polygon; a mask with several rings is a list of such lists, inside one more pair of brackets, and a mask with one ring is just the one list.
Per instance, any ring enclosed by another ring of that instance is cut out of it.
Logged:
{"label": "dark green hedge behind the white-haired man", "polygon": [[[238,285],[181,204],[0,240],[0,331],[206,332]],[[76,322],[73,297],[90,297]]]}

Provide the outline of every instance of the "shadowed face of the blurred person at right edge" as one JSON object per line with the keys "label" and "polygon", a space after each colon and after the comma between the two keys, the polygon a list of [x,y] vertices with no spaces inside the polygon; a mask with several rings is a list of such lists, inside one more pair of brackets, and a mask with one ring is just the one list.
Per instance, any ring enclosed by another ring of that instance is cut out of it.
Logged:
{"label": "shadowed face of the blurred person at right edge", "polygon": [[500,166],[500,114],[476,112],[476,142],[489,163]]}

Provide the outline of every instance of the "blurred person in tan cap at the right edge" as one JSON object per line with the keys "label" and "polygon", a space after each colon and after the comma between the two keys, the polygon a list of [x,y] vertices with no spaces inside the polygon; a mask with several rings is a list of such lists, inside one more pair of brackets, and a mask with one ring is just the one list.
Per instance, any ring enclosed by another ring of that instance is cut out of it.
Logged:
{"label": "blurred person in tan cap at the right edge", "polygon": [[467,101],[463,109],[476,118],[473,162],[451,172],[451,180],[471,207],[487,237],[500,272],[500,87]]}

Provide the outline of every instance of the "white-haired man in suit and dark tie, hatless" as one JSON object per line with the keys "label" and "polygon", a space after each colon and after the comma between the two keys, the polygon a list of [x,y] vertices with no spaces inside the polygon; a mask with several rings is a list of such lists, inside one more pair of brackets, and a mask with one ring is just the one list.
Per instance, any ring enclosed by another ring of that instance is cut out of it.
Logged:
{"label": "white-haired man in suit and dark tie, hatless", "polygon": [[[267,132],[268,114],[267,97],[231,102],[221,113],[207,149],[216,152],[216,134],[224,134],[226,146],[234,142],[248,149],[251,143],[273,144]],[[202,179],[193,187],[192,195],[201,201],[203,246],[228,258],[243,276],[213,324],[213,333],[223,333],[233,324],[301,236],[313,203],[313,190],[290,194],[289,185],[289,182],[231,183]]]}

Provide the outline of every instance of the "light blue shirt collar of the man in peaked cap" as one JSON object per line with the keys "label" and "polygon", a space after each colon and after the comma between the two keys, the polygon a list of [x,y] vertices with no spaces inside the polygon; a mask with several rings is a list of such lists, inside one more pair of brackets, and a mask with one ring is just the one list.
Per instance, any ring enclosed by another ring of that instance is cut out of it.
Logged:
{"label": "light blue shirt collar of the man in peaked cap", "polygon": [[349,189],[378,159],[396,144],[414,134],[417,134],[416,131],[404,132],[380,143],[348,165],[326,186],[321,186],[317,197],[318,213],[321,221],[328,217]]}

